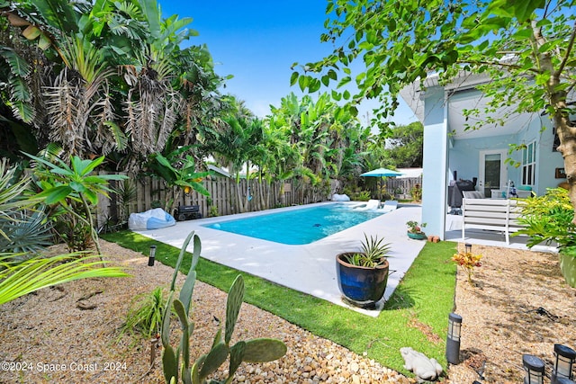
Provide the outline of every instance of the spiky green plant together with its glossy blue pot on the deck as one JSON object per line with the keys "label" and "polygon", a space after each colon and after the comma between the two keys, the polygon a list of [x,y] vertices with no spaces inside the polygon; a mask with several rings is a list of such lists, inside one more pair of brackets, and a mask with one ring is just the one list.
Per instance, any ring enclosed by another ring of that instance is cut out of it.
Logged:
{"label": "spiky green plant together with its glossy blue pot on the deck", "polygon": [[336,256],[338,286],[345,301],[360,308],[375,308],[383,298],[388,282],[389,263],[386,258],[390,244],[383,238],[365,237],[359,252]]}

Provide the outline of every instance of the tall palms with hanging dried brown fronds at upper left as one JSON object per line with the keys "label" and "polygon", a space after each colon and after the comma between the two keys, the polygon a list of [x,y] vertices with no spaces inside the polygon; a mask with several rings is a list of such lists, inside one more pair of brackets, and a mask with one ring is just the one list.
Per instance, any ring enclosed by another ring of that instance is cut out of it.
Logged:
{"label": "tall palms with hanging dried brown fronds at upper left", "polygon": [[222,79],[210,53],[180,49],[196,33],[183,28],[192,19],[162,19],[156,0],[0,7],[0,61],[9,64],[0,81],[10,85],[0,90],[8,101],[0,125],[21,150],[56,141],[68,156],[104,155],[138,168],[166,146],[193,144],[218,110]]}

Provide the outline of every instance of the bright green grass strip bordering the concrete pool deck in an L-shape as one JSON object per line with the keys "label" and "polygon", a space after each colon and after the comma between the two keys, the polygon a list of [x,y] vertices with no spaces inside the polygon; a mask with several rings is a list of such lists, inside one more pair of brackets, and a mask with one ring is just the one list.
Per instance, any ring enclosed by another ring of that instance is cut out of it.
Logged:
{"label": "bright green grass strip bordering the concrete pool deck in an L-shape", "polygon": [[[141,252],[148,257],[149,247],[157,246],[157,261],[175,266],[179,249],[130,231],[106,234],[103,239]],[[450,258],[455,243],[427,243],[388,300],[378,317],[291,290],[259,277],[202,259],[196,271],[198,280],[228,291],[232,281],[242,274],[247,303],[266,309],[276,316],[343,345],[355,353],[392,370],[403,369],[400,348],[411,346],[434,357],[446,369],[446,331],[448,314],[454,306],[455,264]],[[182,272],[188,272],[185,258]]]}

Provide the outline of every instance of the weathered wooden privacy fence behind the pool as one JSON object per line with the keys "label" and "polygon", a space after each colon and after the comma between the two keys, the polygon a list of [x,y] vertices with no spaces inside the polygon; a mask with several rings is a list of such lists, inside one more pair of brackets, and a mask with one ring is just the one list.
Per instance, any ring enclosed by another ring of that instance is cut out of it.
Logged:
{"label": "weathered wooden privacy fence behind the pool", "polygon": [[162,208],[173,214],[171,207],[198,205],[202,216],[209,217],[329,200],[326,188],[296,180],[259,183],[240,179],[237,184],[236,180],[227,177],[204,179],[202,185],[210,192],[209,196],[204,196],[195,191],[184,193],[182,189],[167,187],[164,181],[155,177],[125,175],[129,176],[128,181],[112,181],[110,186],[118,191],[126,190],[131,184],[132,197],[127,199],[129,193],[111,193],[110,198],[101,196],[97,210],[99,227],[107,221],[126,220],[130,213],[152,208]]}

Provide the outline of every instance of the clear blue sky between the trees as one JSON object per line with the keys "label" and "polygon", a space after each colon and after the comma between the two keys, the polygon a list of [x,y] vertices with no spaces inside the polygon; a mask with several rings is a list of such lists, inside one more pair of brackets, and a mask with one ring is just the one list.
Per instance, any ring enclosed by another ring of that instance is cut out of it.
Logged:
{"label": "clear blue sky between the trees", "polygon": [[[207,44],[220,76],[233,75],[224,92],[244,100],[257,116],[269,114],[269,105],[294,92],[302,96],[298,86],[290,86],[290,67],[294,62],[305,64],[323,58],[332,50],[329,43],[320,43],[324,30],[324,0],[261,0],[261,1],[198,1],[158,0],[165,17],[178,14],[192,17],[190,28],[199,36],[190,44]],[[359,117],[374,102],[365,103]],[[416,121],[404,103],[393,121],[408,124]]]}

